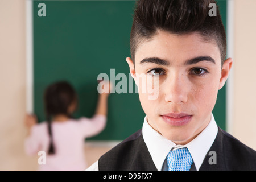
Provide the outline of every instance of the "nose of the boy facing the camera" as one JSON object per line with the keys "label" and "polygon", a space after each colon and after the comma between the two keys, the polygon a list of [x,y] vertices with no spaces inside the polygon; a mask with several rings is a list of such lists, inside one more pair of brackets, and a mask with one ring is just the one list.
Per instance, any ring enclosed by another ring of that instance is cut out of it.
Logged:
{"label": "nose of the boy facing the camera", "polygon": [[166,80],[164,88],[166,102],[174,104],[185,103],[188,100],[188,85],[183,75],[170,76]]}

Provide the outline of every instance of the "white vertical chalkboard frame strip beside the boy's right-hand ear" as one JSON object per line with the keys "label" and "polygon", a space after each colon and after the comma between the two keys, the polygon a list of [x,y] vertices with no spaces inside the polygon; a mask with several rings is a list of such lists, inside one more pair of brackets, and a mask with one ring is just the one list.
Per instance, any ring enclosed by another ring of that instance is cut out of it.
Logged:
{"label": "white vertical chalkboard frame strip beside the boy's right-hand ear", "polygon": [[[227,2],[227,57],[234,56],[234,1],[228,0]],[[234,64],[234,63],[233,63]],[[233,100],[234,100],[234,76],[233,68],[229,73],[229,78],[226,82],[226,130],[228,133],[233,133]]]}

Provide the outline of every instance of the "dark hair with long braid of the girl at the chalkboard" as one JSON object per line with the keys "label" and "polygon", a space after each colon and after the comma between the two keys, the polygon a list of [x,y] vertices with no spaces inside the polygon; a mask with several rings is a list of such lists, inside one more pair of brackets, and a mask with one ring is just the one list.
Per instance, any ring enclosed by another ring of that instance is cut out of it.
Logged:
{"label": "dark hair with long braid of the girl at the chalkboard", "polygon": [[55,154],[55,147],[52,137],[52,117],[57,114],[64,114],[71,117],[69,106],[77,102],[75,90],[67,81],[59,81],[49,85],[44,92],[44,110],[48,122],[48,133],[50,137],[48,154]]}

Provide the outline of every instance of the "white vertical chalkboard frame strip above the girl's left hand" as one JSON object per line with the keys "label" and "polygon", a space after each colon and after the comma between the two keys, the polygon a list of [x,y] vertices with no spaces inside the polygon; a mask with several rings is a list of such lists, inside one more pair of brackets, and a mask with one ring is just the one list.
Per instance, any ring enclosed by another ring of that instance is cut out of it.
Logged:
{"label": "white vertical chalkboard frame strip above the girl's left hand", "polygon": [[33,106],[33,3],[31,0],[26,0],[26,111],[32,114],[34,112]]}

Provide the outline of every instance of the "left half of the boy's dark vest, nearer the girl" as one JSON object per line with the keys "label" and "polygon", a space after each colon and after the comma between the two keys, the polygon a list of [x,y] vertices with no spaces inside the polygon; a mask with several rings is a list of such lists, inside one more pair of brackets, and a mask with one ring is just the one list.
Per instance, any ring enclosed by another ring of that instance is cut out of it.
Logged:
{"label": "left half of the boy's dark vest, nearer the girl", "polygon": [[156,170],[142,137],[142,129],[130,135],[98,160],[98,169],[114,171]]}

